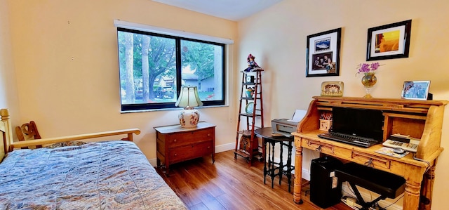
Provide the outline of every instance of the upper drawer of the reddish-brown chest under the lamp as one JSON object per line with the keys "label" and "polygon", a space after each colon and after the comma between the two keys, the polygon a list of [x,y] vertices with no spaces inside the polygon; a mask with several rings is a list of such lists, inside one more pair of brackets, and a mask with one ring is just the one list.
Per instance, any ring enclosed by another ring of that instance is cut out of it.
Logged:
{"label": "upper drawer of the reddish-brown chest under the lamp", "polygon": [[192,145],[193,143],[200,143],[203,141],[213,140],[215,136],[215,129],[202,129],[198,131],[187,131],[182,133],[169,134],[166,137],[166,145],[168,148],[181,147],[184,145]]}

